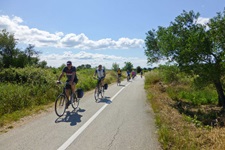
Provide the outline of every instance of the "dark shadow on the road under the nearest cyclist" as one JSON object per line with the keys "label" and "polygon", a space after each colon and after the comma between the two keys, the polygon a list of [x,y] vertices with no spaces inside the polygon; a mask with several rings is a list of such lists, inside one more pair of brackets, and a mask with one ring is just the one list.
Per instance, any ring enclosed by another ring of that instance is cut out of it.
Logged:
{"label": "dark shadow on the road under the nearest cyclist", "polygon": [[81,117],[78,112],[85,112],[85,109],[79,108],[78,110],[73,110],[73,111],[66,111],[63,117],[59,117],[55,120],[55,123],[60,123],[60,122],[70,122],[71,126],[75,126],[77,123],[81,122]]}

